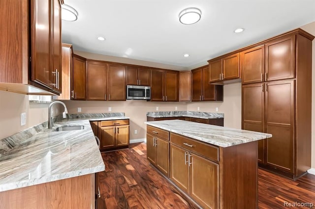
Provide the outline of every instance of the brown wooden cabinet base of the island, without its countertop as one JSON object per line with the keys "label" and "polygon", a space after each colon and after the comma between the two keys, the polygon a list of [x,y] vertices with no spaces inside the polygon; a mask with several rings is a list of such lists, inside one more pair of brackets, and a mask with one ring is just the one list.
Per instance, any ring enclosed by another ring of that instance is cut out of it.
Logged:
{"label": "brown wooden cabinet base of the island, without its countertop", "polygon": [[[147,126],[165,135],[164,130]],[[180,134],[169,134],[169,174],[159,168],[147,141],[147,156],[153,165],[179,189],[204,209],[256,209],[257,199],[257,141],[230,147],[218,147]],[[154,137],[151,137],[154,138]],[[164,138],[168,138],[164,136]],[[150,158],[151,157],[151,158]],[[167,168],[167,166],[166,166]]]}

